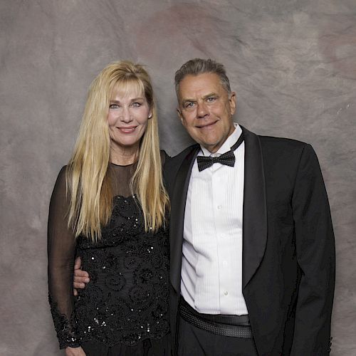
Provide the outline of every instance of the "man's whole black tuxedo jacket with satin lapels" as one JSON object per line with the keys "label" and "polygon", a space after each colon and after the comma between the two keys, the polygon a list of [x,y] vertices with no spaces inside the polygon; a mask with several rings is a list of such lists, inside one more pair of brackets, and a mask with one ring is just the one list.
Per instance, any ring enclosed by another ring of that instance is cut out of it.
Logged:
{"label": "man's whole black tuxedo jacket with satin lapels", "polygon": [[[328,355],[335,241],[318,158],[303,142],[258,136],[241,128],[245,137],[243,294],[258,355]],[[199,150],[199,145],[188,147],[164,165],[171,199],[175,348],[184,209]]]}

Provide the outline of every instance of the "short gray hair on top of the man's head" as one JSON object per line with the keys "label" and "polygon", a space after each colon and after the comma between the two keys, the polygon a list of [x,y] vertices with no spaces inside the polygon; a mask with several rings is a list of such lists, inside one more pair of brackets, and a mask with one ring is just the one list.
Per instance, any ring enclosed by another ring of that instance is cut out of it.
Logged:
{"label": "short gray hair on top of the man's head", "polygon": [[217,63],[214,59],[194,58],[183,64],[174,75],[174,85],[176,93],[179,92],[179,83],[186,75],[198,75],[203,73],[215,73],[219,75],[221,85],[227,93],[231,94],[229,78],[227,78],[226,70],[221,63]]}

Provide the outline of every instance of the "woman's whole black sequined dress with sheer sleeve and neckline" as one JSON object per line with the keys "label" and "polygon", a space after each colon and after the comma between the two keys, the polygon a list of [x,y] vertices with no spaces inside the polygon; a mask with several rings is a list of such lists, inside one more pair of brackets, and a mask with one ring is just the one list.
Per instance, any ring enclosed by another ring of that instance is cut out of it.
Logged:
{"label": "woman's whole black sequined dress with sheer sleeve and neckline", "polygon": [[[170,355],[167,229],[146,232],[130,179],[135,164],[109,165],[112,216],[102,239],[74,239],[68,229],[66,167],[58,175],[48,218],[48,288],[60,347],[87,355]],[[73,262],[90,282],[73,296]]]}

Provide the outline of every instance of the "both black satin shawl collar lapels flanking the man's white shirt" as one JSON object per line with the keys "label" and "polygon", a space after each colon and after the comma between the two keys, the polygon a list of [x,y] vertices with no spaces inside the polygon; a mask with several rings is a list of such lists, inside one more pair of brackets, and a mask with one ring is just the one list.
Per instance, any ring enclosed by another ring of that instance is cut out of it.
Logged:
{"label": "both black satin shawl collar lapels flanking the man's white shirt", "polygon": [[[267,241],[266,192],[263,173],[261,143],[257,135],[241,126],[245,137],[244,217],[243,217],[243,288],[251,280],[260,265]],[[194,145],[184,158],[174,182],[171,197],[170,278],[177,293],[180,293],[182,267],[182,244],[184,211],[187,201],[190,174],[200,150]]]}

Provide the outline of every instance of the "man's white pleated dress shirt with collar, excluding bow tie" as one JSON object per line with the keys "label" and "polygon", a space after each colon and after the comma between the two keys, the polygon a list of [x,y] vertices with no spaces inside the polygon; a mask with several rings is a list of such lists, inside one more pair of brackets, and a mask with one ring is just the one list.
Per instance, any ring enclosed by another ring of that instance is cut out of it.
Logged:
{"label": "man's white pleated dress shirt with collar, excluding bow tie", "polygon": [[[241,127],[211,154],[228,152]],[[234,167],[214,163],[199,172],[197,160],[189,180],[184,214],[181,293],[199,313],[248,314],[242,295],[242,208],[244,142],[234,151]]]}

